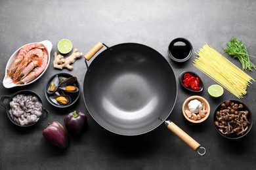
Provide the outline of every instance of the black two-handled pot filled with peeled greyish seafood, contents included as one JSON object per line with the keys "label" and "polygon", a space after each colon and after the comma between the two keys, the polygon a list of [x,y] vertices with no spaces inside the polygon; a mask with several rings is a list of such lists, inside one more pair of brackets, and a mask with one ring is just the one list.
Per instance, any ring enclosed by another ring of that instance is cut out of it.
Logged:
{"label": "black two-handled pot filled with peeled greyish seafood, contents included", "polygon": [[49,114],[49,111],[43,107],[41,97],[30,90],[3,95],[0,105],[5,107],[11,122],[20,127],[32,126],[39,121],[47,120]]}

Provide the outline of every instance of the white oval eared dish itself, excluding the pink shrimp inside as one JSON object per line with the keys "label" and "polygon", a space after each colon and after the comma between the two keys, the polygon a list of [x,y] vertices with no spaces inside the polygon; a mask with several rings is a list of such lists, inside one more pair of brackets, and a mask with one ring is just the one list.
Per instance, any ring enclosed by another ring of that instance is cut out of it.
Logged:
{"label": "white oval eared dish itself, excluding the pink shrimp inside", "polygon": [[3,86],[5,88],[14,88],[16,86],[26,86],[28,84],[32,84],[33,82],[35,82],[36,80],[38,80],[44,73],[45,71],[47,70],[47,68],[49,67],[49,63],[51,61],[51,50],[53,48],[53,43],[51,41],[48,41],[48,40],[45,40],[45,41],[41,41],[41,42],[32,42],[32,43],[29,43],[29,44],[33,44],[33,43],[39,43],[39,44],[43,44],[47,50],[47,54],[48,54],[48,63],[47,63],[47,66],[45,67],[45,70],[37,77],[35,78],[34,80],[32,80],[31,82],[28,82],[26,84],[14,84],[12,82],[12,79],[7,76],[7,69],[9,67],[9,65],[11,65],[12,61],[16,58],[16,56],[18,55],[18,52],[20,51],[20,49],[28,44],[25,44],[24,46],[21,46],[20,48],[18,48],[18,50],[16,50],[16,52],[14,52],[11,56],[11,58],[9,58],[8,62],[7,62],[7,65],[5,67],[5,78],[3,78]]}

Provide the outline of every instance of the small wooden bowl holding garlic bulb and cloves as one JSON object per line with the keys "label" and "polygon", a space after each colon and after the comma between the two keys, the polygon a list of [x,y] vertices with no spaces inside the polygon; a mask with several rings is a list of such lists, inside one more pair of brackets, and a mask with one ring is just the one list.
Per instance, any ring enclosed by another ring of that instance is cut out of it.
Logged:
{"label": "small wooden bowl holding garlic bulb and cloves", "polygon": [[200,95],[188,97],[182,105],[184,118],[192,123],[201,123],[205,121],[210,114],[210,105],[208,101]]}

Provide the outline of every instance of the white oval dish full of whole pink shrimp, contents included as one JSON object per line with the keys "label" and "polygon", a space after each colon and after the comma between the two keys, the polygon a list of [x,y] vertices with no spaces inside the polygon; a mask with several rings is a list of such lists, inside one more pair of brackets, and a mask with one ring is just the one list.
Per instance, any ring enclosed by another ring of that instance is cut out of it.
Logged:
{"label": "white oval dish full of whole pink shrimp, contents included", "polygon": [[52,48],[53,44],[48,40],[18,48],[7,62],[3,86],[26,86],[38,80],[49,67]]}

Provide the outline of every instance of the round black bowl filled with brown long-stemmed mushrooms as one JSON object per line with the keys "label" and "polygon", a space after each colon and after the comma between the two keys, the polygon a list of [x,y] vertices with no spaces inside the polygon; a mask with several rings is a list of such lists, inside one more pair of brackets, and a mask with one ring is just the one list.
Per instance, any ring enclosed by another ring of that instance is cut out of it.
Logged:
{"label": "round black bowl filled with brown long-stemmed mushrooms", "polygon": [[227,139],[244,137],[253,126],[249,108],[241,101],[226,100],[217,106],[213,122],[219,134]]}

